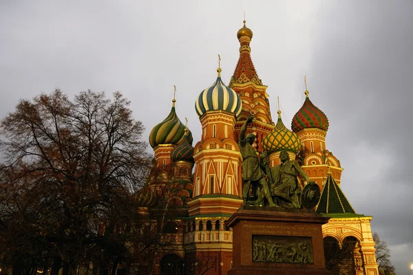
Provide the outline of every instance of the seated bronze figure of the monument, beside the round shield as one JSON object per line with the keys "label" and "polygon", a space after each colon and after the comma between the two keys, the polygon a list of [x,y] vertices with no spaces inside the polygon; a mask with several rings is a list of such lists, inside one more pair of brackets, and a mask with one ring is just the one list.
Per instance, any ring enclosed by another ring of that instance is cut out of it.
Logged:
{"label": "seated bronze figure of the monument, beside the round shield", "polygon": [[301,186],[297,180],[297,175],[304,177],[307,182],[310,179],[295,160],[290,160],[290,156],[286,151],[279,153],[279,159],[281,164],[271,167],[269,171],[267,169],[271,173],[271,175],[268,175],[271,193],[277,199],[274,202],[283,207],[301,208],[299,199]]}

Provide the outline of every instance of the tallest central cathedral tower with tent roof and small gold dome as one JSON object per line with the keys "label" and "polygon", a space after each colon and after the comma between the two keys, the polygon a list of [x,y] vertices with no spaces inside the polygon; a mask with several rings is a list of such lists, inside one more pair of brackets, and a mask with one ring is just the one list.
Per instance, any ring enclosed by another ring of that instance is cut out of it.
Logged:
{"label": "tallest central cathedral tower with tent roof and small gold dome", "polygon": [[245,23],[244,20],[244,26],[237,32],[237,39],[240,41],[240,59],[238,59],[229,87],[240,95],[242,101],[242,111],[235,123],[237,139],[244,120],[251,114],[255,114],[255,121],[248,125],[247,133],[253,133],[256,136],[257,139],[253,146],[257,151],[262,152],[262,140],[274,129],[274,123],[266,93],[267,86],[262,84],[251,59],[250,43],[253,32],[246,28]]}

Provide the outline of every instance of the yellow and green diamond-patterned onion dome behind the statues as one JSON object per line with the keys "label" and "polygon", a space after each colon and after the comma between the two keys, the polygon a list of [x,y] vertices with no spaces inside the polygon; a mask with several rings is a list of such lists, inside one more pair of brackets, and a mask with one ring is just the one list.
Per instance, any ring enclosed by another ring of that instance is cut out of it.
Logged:
{"label": "yellow and green diamond-patterned onion dome behind the statues", "polygon": [[299,137],[293,131],[287,129],[281,119],[281,111],[277,111],[278,120],[273,131],[262,140],[262,148],[268,153],[290,151],[297,154],[300,149]]}

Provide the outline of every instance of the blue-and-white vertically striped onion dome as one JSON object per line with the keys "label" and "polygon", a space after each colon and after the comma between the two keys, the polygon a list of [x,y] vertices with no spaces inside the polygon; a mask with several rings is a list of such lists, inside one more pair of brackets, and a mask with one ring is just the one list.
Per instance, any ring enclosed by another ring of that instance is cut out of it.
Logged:
{"label": "blue-and-white vertically striped onion dome", "polygon": [[242,111],[240,96],[231,88],[226,87],[220,76],[211,87],[204,89],[195,102],[195,111],[199,117],[207,111],[227,111],[237,117]]}

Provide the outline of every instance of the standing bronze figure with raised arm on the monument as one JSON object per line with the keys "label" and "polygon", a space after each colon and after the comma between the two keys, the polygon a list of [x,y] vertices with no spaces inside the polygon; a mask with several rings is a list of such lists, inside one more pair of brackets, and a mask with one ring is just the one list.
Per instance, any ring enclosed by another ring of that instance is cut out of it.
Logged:
{"label": "standing bronze figure with raised arm on the monument", "polygon": [[252,122],[254,119],[254,115],[251,115],[247,118],[244,125],[242,125],[241,132],[240,132],[240,142],[238,145],[240,146],[240,152],[243,157],[242,160],[242,179],[243,179],[243,186],[242,186],[242,199],[244,199],[244,205],[247,203],[248,192],[251,184],[260,184],[262,191],[258,196],[257,201],[255,201],[255,205],[258,206],[264,200],[264,197],[268,201],[269,206],[277,206],[273,202],[273,198],[271,197],[270,189],[268,188],[268,182],[266,181],[265,174],[260,167],[260,162],[258,160],[257,152],[253,148],[252,144],[255,140],[255,135],[252,133],[246,133],[246,127],[248,123]]}

